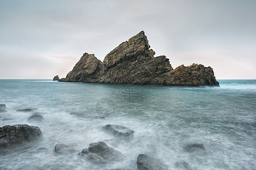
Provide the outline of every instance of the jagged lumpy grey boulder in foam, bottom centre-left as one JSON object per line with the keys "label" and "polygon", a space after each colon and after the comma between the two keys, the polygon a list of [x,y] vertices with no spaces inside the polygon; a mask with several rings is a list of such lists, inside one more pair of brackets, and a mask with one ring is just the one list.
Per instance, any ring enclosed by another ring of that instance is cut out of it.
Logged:
{"label": "jagged lumpy grey boulder in foam, bottom centre-left", "polygon": [[82,150],[79,155],[85,156],[95,164],[106,164],[123,159],[121,152],[109,147],[105,142],[91,143],[89,148]]}

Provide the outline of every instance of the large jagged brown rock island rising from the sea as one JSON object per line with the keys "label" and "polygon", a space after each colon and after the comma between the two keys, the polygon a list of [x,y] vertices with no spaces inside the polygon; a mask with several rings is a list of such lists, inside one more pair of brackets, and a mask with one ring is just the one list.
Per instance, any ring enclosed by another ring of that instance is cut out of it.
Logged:
{"label": "large jagged brown rock island rising from the sea", "polygon": [[122,42],[104,62],[84,53],[61,82],[164,84],[169,86],[218,86],[211,67],[193,64],[172,69],[166,56],[154,57],[144,32]]}

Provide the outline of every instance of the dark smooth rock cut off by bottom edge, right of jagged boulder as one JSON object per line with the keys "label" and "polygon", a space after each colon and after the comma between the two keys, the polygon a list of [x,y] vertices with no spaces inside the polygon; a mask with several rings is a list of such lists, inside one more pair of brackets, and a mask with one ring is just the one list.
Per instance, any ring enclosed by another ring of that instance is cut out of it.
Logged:
{"label": "dark smooth rock cut off by bottom edge, right of jagged boulder", "polygon": [[140,154],[137,158],[137,167],[138,169],[141,169],[141,170],[168,169],[167,165],[160,162],[159,159],[155,159],[143,154]]}

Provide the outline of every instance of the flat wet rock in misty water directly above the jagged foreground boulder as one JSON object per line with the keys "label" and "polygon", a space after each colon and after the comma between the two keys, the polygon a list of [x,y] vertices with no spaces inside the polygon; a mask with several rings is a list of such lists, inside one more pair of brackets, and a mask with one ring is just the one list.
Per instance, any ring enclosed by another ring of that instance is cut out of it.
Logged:
{"label": "flat wet rock in misty water directly above the jagged foreground boulder", "polygon": [[131,139],[133,138],[134,131],[130,130],[128,128],[125,128],[125,126],[121,125],[105,125],[102,127],[102,129],[109,131],[116,137],[121,137],[125,139]]}

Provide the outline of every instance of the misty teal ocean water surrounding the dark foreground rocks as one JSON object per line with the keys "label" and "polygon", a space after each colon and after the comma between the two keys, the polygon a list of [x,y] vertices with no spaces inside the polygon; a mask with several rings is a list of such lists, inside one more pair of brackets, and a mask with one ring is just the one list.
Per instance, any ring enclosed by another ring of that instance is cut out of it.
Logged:
{"label": "misty teal ocean water surrounding the dark foreground rocks", "polygon": [[[0,126],[35,125],[43,133],[41,141],[0,155],[0,169],[137,169],[139,154],[169,169],[180,161],[192,169],[256,169],[256,80],[218,81],[220,87],[0,80],[0,104],[8,111],[0,113]],[[17,111],[24,108],[36,110]],[[28,122],[34,112],[45,121]],[[115,138],[102,130],[106,124],[132,129],[134,138]],[[98,141],[120,151],[123,160],[100,166],[77,156]],[[57,155],[57,143],[76,152]],[[185,151],[192,143],[203,143],[205,151]]]}

